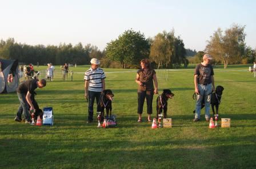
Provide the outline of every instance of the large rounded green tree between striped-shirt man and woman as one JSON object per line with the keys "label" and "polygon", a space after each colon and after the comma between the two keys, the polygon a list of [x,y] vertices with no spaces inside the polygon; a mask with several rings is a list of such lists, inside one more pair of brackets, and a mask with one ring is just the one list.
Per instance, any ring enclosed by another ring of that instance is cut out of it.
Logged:
{"label": "large rounded green tree between striped-shirt man and woman", "polygon": [[138,65],[143,58],[149,58],[149,39],[132,29],[119,35],[118,39],[107,43],[106,57],[118,61],[123,69]]}

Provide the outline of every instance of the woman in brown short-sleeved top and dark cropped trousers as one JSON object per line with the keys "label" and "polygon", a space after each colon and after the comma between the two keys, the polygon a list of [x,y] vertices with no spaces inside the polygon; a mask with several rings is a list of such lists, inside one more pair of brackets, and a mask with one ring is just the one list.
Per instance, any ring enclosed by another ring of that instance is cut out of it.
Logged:
{"label": "woman in brown short-sleeved top and dark cropped trousers", "polygon": [[138,122],[142,122],[141,115],[145,98],[147,100],[147,120],[151,122],[153,95],[158,93],[157,75],[151,68],[149,59],[142,59],[140,63],[141,69],[137,71],[135,80],[138,84]]}

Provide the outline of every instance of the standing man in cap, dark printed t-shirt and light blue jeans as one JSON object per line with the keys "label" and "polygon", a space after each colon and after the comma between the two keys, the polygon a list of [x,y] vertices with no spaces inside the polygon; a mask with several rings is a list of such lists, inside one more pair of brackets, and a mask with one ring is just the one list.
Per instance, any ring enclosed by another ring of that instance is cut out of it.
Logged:
{"label": "standing man in cap, dark printed t-shirt and light blue jeans", "polygon": [[203,55],[203,62],[195,67],[194,84],[195,93],[197,94],[197,103],[195,105],[194,122],[200,120],[201,115],[201,101],[205,98],[205,119],[210,120],[210,103],[211,92],[215,91],[214,87],[214,72],[210,61],[213,58],[209,54]]}

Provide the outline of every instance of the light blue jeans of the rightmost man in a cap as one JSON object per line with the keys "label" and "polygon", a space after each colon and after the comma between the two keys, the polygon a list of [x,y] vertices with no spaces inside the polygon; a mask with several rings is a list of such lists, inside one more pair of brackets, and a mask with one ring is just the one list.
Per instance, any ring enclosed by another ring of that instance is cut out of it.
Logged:
{"label": "light blue jeans of the rightmost man in a cap", "polygon": [[198,91],[200,94],[197,94],[197,103],[195,106],[195,118],[200,119],[201,115],[201,101],[203,99],[203,96],[205,97],[205,118],[210,118],[210,104],[211,104],[211,90],[212,85],[207,84],[198,84]]}

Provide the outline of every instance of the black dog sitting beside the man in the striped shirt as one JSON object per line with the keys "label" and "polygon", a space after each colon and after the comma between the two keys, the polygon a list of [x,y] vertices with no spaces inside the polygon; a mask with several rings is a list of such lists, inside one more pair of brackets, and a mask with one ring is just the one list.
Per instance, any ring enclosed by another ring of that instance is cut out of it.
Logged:
{"label": "black dog sitting beside the man in the striped shirt", "polygon": [[103,90],[101,92],[101,100],[99,100],[99,106],[101,107],[101,121],[104,119],[104,109],[106,108],[106,116],[109,117],[109,112],[111,116],[112,111],[112,101],[114,94],[111,90]]}

